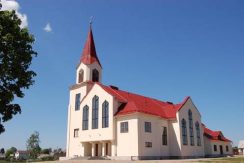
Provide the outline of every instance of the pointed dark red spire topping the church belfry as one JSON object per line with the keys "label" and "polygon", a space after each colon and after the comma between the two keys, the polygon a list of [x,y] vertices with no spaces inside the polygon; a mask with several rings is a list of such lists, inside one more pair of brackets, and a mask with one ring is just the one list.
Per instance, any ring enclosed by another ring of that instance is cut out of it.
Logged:
{"label": "pointed dark red spire topping the church belfry", "polygon": [[100,61],[97,57],[95,43],[94,43],[93,34],[92,34],[92,28],[91,28],[91,24],[90,24],[90,30],[88,33],[88,37],[87,37],[84,49],[82,51],[80,62],[82,62],[86,65],[89,65],[96,61],[101,66]]}

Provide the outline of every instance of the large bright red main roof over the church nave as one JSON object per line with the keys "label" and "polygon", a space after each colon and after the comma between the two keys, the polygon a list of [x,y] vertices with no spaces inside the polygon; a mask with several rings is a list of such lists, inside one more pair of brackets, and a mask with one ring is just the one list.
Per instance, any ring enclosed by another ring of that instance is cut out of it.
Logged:
{"label": "large bright red main roof over the church nave", "polygon": [[100,85],[106,92],[118,99],[123,107],[120,107],[116,115],[126,115],[135,112],[151,114],[162,118],[176,118],[177,111],[190,98],[187,97],[180,104],[173,104],[170,102],[163,102],[150,97],[141,96],[127,91],[118,90],[115,87]]}

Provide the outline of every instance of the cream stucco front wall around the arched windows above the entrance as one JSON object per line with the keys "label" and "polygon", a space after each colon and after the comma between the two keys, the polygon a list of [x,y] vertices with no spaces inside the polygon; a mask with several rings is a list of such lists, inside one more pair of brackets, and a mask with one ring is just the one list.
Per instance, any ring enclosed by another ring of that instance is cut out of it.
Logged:
{"label": "cream stucco front wall around the arched windows above the entrance", "polygon": [[[68,113],[68,130],[67,130],[67,156],[73,157],[84,156],[87,153],[84,151],[82,142],[95,142],[102,140],[114,139],[114,101],[113,97],[105,92],[99,85],[95,84],[92,90],[84,98],[80,104],[80,109],[75,111],[75,95],[81,93],[81,100],[85,96],[86,86],[70,91],[70,107]],[[92,98],[97,95],[99,97],[98,111],[98,129],[92,129]],[[109,103],[109,127],[102,128],[102,103],[107,100]],[[88,130],[82,130],[83,107],[89,107]],[[74,137],[74,129],[79,129],[79,136]]]}

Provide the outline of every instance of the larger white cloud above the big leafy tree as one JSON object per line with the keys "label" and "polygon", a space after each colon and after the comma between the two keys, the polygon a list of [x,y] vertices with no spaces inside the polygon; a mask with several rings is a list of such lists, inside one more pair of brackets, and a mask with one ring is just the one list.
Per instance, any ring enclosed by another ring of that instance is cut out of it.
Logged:
{"label": "larger white cloud above the big leafy tree", "polygon": [[5,10],[8,10],[8,11],[15,10],[16,11],[16,15],[22,21],[22,23],[20,25],[21,28],[25,28],[28,26],[27,15],[19,12],[20,6],[19,6],[19,3],[17,1],[15,1],[15,0],[1,0],[1,3],[2,3],[2,9],[1,9],[2,11],[5,11]]}

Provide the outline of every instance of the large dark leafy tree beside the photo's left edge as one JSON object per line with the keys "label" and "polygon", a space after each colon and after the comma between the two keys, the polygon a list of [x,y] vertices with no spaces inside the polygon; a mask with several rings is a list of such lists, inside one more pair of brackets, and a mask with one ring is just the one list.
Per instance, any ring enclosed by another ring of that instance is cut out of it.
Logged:
{"label": "large dark leafy tree beside the photo's left edge", "polygon": [[34,84],[34,71],[29,70],[37,53],[32,49],[34,37],[27,28],[20,28],[21,20],[15,11],[0,11],[0,134],[3,123],[21,113],[16,98],[23,98],[23,89]]}

